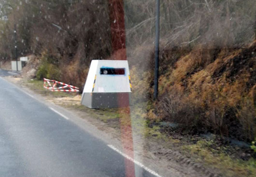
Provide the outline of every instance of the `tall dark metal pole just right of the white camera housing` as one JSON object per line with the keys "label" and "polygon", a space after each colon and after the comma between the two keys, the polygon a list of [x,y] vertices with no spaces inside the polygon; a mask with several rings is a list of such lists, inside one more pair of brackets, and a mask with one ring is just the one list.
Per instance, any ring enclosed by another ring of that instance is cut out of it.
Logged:
{"label": "tall dark metal pole just right of the white camera housing", "polygon": [[160,23],[160,2],[156,0],[156,41],[155,41],[155,87],[154,87],[154,99],[158,95],[158,68],[159,68],[159,23]]}

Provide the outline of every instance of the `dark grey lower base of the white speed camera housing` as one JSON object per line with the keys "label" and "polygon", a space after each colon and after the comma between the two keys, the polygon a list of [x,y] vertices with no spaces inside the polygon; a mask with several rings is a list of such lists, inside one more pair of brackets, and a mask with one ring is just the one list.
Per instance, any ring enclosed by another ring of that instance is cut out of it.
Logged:
{"label": "dark grey lower base of the white speed camera housing", "polygon": [[83,93],[81,104],[88,108],[122,108],[130,105],[131,92]]}

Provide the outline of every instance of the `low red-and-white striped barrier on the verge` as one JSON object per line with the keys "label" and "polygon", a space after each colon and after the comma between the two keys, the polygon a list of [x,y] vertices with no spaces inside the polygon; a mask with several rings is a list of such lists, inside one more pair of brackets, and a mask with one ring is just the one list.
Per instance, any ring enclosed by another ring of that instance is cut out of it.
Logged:
{"label": "low red-and-white striped barrier on the verge", "polygon": [[78,87],[74,87],[63,82],[46,78],[43,78],[43,88],[50,91],[79,92]]}

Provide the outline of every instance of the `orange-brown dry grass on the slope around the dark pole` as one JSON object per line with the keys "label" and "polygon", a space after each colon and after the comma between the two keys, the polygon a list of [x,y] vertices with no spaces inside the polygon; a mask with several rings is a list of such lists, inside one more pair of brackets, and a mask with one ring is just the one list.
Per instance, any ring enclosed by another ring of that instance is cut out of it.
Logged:
{"label": "orange-brown dry grass on the slope around the dark pole", "polygon": [[[254,51],[256,42],[244,49],[198,46],[177,58],[165,55],[161,58],[156,109],[149,111],[148,117],[180,123],[192,133],[210,131],[253,140],[256,136]],[[175,54],[173,50],[164,52]],[[138,66],[131,73],[140,73]],[[136,98],[153,93],[152,73],[146,70],[141,77],[134,75]]]}

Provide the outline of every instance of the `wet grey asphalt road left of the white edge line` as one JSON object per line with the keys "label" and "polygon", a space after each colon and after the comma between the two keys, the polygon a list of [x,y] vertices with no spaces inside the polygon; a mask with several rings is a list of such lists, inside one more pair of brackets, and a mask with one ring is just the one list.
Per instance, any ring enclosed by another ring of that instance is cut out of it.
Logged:
{"label": "wet grey asphalt road left of the white edge line", "polygon": [[126,177],[125,157],[105,142],[1,77],[0,86],[0,177]]}

